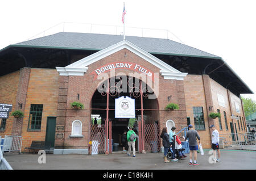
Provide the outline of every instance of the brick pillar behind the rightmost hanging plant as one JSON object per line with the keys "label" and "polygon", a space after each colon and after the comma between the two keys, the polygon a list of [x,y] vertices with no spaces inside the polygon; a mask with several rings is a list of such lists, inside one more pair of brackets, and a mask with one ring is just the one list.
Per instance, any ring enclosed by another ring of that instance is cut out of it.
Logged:
{"label": "brick pillar behind the rightmost hanging plant", "polygon": [[[208,117],[208,129],[210,131],[210,125],[214,125],[214,120],[209,117],[209,114],[211,112],[214,112],[213,108],[213,101],[212,101],[212,91],[210,89],[210,77],[209,75],[202,75],[203,77],[203,83],[204,83],[204,94],[205,94],[205,100],[206,100],[206,105],[207,105],[207,117]],[[211,108],[211,110],[210,110]],[[212,140],[212,131],[210,131],[210,140]],[[210,142],[212,144],[212,142]]]}

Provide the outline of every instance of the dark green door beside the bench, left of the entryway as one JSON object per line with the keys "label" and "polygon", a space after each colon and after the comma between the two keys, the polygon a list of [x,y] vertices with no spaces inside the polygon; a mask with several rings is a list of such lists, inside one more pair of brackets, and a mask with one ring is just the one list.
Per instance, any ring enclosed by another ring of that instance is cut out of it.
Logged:
{"label": "dark green door beside the bench, left of the entryway", "polygon": [[56,127],[56,117],[47,117],[46,141],[51,141],[51,148],[54,147],[55,127]]}

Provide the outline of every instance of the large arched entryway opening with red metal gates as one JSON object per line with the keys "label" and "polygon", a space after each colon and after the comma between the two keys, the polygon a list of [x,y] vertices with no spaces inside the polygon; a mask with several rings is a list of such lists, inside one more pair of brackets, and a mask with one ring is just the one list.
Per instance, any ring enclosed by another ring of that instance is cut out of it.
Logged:
{"label": "large arched entryway opening with red metal gates", "polygon": [[[115,99],[121,96],[135,101],[134,118],[115,117]],[[134,127],[139,138],[136,150],[158,152],[159,138],[159,105],[151,87],[135,77],[121,75],[109,78],[98,85],[91,100],[90,140],[93,153],[112,153],[122,150],[121,135]],[[109,141],[111,140],[111,141]],[[109,149],[112,148],[113,149]]]}

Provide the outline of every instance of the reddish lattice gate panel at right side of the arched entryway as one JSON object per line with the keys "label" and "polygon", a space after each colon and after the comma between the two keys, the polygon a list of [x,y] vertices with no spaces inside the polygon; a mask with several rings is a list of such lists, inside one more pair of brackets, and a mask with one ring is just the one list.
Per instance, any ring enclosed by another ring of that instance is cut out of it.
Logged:
{"label": "reddish lattice gate panel at right side of the arched entryway", "polygon": [[144,124],[144,143],[145,151],[154,153],[160,151],[160,135],[158,124]]}

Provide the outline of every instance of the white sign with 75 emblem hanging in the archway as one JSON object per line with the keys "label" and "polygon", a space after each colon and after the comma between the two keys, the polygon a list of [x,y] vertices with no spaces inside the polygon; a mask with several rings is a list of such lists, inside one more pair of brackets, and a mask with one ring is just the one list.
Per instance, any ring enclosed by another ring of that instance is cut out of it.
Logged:
{"label": "white sign with 75 emblem hanging in the archway", "polygon": [[135,99],[129,96],[115,99],[115,118],[135,118]]}

